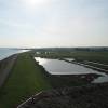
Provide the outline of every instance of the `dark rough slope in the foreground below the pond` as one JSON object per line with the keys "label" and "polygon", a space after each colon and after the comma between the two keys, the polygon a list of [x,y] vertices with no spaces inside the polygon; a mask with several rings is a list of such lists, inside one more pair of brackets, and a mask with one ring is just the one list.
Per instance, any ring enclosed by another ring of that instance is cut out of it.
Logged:
{"label": "dark rough slope in the foreground below the pond", "polygon": [[108,83],[41,92],[17,108],[108,108]]}

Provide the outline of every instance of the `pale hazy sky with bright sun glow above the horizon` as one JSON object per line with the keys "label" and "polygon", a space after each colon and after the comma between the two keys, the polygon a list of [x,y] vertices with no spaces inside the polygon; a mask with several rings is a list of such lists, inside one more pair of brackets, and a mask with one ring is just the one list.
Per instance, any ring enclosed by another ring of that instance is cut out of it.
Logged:
{"label": "pale hazy sky with bright sun glow above the horizon", "polygon": [[0,46],[108,46],[108,0],[0,0]]}

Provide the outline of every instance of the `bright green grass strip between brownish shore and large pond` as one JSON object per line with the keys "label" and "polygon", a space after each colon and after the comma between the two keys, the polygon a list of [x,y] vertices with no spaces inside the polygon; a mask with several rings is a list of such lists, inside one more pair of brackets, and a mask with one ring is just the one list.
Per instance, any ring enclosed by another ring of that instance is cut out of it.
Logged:
{"label": "bright green grass strip between brownish shore and large pond", "polygon": [[29,53],[19,54],[0,91],[0,108],[15,108],[35,93],[48,89],[51,89],[51,85]]}

